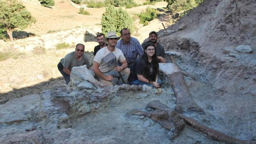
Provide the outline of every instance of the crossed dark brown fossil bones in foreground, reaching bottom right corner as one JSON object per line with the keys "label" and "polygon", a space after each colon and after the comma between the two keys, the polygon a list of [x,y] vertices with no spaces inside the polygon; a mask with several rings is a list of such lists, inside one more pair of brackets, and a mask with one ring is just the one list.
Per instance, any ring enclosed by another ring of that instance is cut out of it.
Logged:
{"label": "crossed dark brown fossil bones in foreground, reaching bottom right corner", "polygon": [[[205,125],[200,124],[193,118],[188,118],[180,113],[177,113],[175,110],[171,110],[168,106],[160,102],[159,100],[152,101],[147,104],[148,107],[153,109],[158,109],[162,112],[160,113],[147,113],[140,110],[132,110],[128,112],[130,115],[143,115],[145,117],[152,118],[153,120],[157,121],[159,124],[161,124],[163,127],[167,127],[166,129],[171,130],[173,133],[169,137],[170,139],[174,139],[178,136],[178,134],[184,129],[185,122],[187,125],[192,127],[193,129],[200,131],[201,133],[205,134],[208,138],[216,140],[216,141],[222,141],[229,144],[256,144],[255,141],[245,141],[240,140],[237,138],[233,138],[230,136],[227,136],[219,131],[216,131],[214,129],[211,129]],[[164,118],[165,122],[159,122],[161,119]],[[167,125],[168,124],[168,125]],[[173,128],[171,127],[171,125]]]}

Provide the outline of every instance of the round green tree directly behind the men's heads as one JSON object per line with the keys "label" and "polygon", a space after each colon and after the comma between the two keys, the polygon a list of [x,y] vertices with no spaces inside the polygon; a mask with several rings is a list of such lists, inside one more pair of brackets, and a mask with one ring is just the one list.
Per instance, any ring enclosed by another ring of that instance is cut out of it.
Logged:
{"label": "round green tree directly behind the men's heads", "polygon": [[109,5],[101,18],[102,33],[106,34],[109,31],[115,31],[120,35],[123,28],[130,29],[131,33],[134,31],[133,20],[127,11],[122,8],[115,9],[114,6]]}

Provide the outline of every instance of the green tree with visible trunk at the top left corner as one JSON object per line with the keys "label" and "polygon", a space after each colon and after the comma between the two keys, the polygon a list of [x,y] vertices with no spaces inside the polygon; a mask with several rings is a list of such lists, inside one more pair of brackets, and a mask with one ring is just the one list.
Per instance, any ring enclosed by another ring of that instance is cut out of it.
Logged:
{"label": "green tree with visible trunk at the top left corner", "polygon": [[14,29],[25,29],[35,22],[30,12],[16,0],[0,1],[0,29],[5,30],[13,41]]}

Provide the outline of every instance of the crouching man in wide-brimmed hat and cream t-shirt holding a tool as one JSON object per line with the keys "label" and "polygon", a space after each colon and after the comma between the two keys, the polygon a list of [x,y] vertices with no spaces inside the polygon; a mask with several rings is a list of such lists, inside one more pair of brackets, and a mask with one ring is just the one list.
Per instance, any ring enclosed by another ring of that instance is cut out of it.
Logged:
{"label": "crouching man in wide-brimmed hat and cream t-shirt holding a tool", "polygon": [[[111,81],[114,77],[120,78],[120,75],[127,83],[130,75],[124,54],[120,49],[115,48],[119,39],[120,37],[116,36],[114,31],[108,32],[106,37],[103,38],[108,43],[108,46],[100,49],[93,60],[92,70],[95,72],[98,81],[107,86],[113,86]],[[122,65],[117,66],[117,61],[120,61]],[[122,84],[122,78],[119,79],[118,85]]]}

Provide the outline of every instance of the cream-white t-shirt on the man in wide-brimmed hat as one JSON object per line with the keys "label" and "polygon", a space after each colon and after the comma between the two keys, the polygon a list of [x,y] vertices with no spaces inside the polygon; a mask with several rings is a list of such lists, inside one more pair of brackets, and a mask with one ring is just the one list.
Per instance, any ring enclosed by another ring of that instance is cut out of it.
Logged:
{"label": "cream-white t-shirt on the man in wide-brimmed hat", "polygon": [[106,61],[106,59],[104,59],[104,57],[110,53],[111,53],[111,51],[109,51],[106,46],[106,47],[103,47],[102,49],[100,49],[94,57],[93,61],[99,63],[99,70],[101,72],[109,72],[110,70],[113,70],[113,68],[115,67],[115,64],[113,65],[113,62],[111,62],[111,61],[114,61],[114,63],[116,63],[117,61],[122,62],[125,60],[125,56],[124,56],[123,52],[120,49],[115,48],[115,50],[112,51],[112,53],[115,55],[116,61],[115,61],[114,56],[113,56],[113,58],[110,57],[112,60],[109,60],[109,58],[108,58],[108,60]]}

